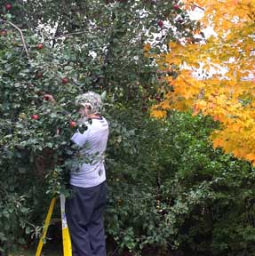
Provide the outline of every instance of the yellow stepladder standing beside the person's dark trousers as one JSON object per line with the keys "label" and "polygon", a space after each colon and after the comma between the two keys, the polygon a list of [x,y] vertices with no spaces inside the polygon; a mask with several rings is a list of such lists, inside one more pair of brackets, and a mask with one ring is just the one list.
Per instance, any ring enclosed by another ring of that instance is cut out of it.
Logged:
{"label": "yellow stepladder standing beside the person's dark trousers", "polygon": [[[57,198],[54,197],[52,198],[45,223],[44,223],[44,231],[43,231],[43,236],[41,236],[39,244],[37,246],[36,250],[36,256],[41,256],[41,252],[44,246],[44,239],[47,235],[47,231],[52,219],[52,212],[54,209],[54,206],[56,204]],[[69,234],[69,229],[68,229],[68,222],[67,222],[67,217],[66,217],[66,212],[65,212],[65,202],[66,198],[63,195],[60,195],[60,209],[61,209],[61,222],[62,222],[62,240],[63,240],[63,252],[64,256],[72,256],[72,244],[71,244],[71,239],[70,239],[70,234]]]}

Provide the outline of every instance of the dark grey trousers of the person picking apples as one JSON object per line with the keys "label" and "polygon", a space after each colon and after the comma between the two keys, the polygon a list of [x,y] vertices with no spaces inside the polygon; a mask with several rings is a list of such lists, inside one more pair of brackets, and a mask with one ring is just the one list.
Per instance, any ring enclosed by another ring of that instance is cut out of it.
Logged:
{"label": "dark grey trousers of the person picking apples", "polygon": [[106,256],[103,222],[106,182],[92,188],[71,188],[74,195],[67,199],[66,214],[73,256]]}

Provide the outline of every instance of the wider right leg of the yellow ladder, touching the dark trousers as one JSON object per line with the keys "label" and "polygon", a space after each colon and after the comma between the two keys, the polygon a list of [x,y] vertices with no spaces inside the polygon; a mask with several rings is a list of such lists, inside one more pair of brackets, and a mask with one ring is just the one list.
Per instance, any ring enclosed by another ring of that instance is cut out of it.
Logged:
{"label": "wider right leg of the yellow ladder, touching the dark trousers", "polygon": [[63,252],[64,256],[72,256],[72,244],[68,229],[68,222],[65,212],[66,197],[60,195],[60,208],[61,208],[61,220],[62,220],[62,238],[63,238]]}

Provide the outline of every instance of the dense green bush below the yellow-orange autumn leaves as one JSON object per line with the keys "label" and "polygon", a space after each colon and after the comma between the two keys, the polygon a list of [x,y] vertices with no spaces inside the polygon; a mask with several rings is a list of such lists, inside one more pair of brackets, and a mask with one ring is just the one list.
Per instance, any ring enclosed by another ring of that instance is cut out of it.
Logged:
{"label": "dense green bush below the yellow-orange autumn leaves", "polygon": [[171,113],[129,125],[108,157],[108,234],[117,244],[157,255],[253,255],[254,170],[211,147],[217,124]]}

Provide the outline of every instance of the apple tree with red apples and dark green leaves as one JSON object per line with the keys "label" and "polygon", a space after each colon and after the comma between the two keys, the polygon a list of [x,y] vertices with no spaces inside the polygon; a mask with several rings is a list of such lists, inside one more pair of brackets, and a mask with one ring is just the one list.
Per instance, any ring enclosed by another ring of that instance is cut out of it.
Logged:
{"label": "apple tree with red apples and dark green leaves", "polygon": [[192,36],[195,23],[175,1],[20,0],[4,1],[0,8],[4,250],[39,236],[50,198],[68,192],[76,96],[88,90],[107,93],[108,180],[114,186],[120,164],[131,164],[124,154],[135,153],[133,143],[142,141],[140,133],[132,136],[131,124],[149,120],[147,108],[162,97],[162,74],[147,58],[147,47],[164,52],[169,41]]}

